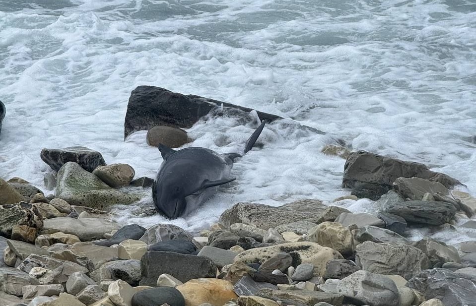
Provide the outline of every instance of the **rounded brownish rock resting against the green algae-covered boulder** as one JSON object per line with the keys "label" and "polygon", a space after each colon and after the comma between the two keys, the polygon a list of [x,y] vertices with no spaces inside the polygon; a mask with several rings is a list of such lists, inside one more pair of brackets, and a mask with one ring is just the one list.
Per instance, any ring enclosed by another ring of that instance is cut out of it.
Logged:
{"label": "rounded brownish rock resting against the green algae-covered boulder", "polygon": [[129,185],[136,175],[134,168],[128,164],[98,166],[92,173],[113,188]]}

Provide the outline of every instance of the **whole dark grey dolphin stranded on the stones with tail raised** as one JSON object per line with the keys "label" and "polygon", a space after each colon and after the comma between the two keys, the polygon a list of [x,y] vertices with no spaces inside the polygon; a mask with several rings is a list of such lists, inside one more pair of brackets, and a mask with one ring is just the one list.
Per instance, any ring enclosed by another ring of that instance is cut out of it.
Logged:
{"label": "whole dark grey dolphin stranded on the stones with tail raised", "polygon": [[[265,121],[246,141],[244,153],[253,148]],[[152,185],[152,198],[157,212],[175,219],[186,216],[212,196],[217,186],[230,183],[230,170],[236,153],[218,154],[215,151],[191,147],[173,150],[159,144],[164,161]]]}

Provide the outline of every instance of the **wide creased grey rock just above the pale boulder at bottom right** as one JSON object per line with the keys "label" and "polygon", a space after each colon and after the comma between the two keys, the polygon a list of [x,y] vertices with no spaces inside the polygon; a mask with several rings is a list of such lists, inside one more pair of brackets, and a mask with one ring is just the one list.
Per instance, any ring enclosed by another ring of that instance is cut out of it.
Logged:
{"label": "wide creased grey rock just above the pale boulder at bottom right", "polygon": [[355,248],[356,264],[375,274],[395,274],[410,279],[430,267],[428,257],[411,245],[366,241]]}

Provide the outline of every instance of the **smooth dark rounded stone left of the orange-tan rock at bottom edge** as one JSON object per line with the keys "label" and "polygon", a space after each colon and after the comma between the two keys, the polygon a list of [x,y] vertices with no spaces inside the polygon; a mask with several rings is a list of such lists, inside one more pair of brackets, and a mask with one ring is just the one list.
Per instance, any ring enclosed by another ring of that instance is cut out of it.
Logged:
{"label": "smooth dark rounded stone left of the orange-tan rock at bottom edge", "polygon": [[185,299],[177,289],[173,287],[156,287],[144,289],[132,297],[132,306],[185,306]]}

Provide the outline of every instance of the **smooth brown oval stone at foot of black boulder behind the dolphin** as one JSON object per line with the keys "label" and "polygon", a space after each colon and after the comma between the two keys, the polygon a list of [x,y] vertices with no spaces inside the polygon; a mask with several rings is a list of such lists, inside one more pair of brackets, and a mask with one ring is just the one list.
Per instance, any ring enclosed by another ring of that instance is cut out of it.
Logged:
{"label": "smooth brown oval stone at foot of black boulder behind the dolphin", "polygon": [[147,131],[147,144],[157,147],[162,143],[169,148],[178,148],[189,142],[187,132],[178,127],[156,125]]}

